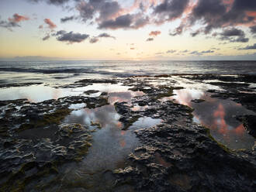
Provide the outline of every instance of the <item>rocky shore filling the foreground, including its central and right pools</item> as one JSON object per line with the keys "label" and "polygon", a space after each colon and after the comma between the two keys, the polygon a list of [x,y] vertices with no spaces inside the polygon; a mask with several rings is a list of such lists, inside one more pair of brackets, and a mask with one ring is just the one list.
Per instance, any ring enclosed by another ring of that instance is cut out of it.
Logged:
{"label": "rocky shore filling the foreground, including its central and right pools", "polygon": [[254,75],[83,79],[51,88],[78,94],[0,101],[0,191],[256,188]]}

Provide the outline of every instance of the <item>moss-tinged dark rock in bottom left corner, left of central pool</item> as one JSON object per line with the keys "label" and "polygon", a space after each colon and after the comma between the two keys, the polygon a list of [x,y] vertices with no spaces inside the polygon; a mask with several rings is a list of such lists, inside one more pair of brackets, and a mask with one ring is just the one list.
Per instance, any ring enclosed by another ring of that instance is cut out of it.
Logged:
{"label": "moss-tinged dark rock in bottom left corner, left of central pool", "polygon": [[26,183],[39,181],[44,176],[52,175],[54,179],[58,166],[81,160],[91,146],[91,132],[78,124],[60,125],[55,135],[54,140],[9,138],[0,141],[1,191],[22,191]]}

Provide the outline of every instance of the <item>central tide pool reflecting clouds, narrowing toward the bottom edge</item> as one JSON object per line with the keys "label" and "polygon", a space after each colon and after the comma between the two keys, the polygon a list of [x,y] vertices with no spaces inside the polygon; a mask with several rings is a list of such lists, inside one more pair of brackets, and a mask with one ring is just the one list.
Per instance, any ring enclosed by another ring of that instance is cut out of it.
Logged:
{"label": "central tide pool reflecting clouds, narrowing toward the bottom edge", "polygon": [[[161,119],[139,118],[128,130],[123,131],[119,118],[113,105],[95,109],[83,108],[72,111],[71,115],[67,116],[65,123],[81,123],[96,132],[93,132],[92,147],[89,148],[85,159],[69,169],[64,174],[64,180],[70,181],[75,177],[85,188],[90,185],[90,189],[95,189],[93,191],[102,191],[99,187],[104,188],[104,185],[114,181],[111,176],[108,181],[105,180],[106,171],[123,167],[127,156],[139,146],[140,142],[133,131],[161,122]],[[101,129],[93,126],[92,122],[99,122]]]}

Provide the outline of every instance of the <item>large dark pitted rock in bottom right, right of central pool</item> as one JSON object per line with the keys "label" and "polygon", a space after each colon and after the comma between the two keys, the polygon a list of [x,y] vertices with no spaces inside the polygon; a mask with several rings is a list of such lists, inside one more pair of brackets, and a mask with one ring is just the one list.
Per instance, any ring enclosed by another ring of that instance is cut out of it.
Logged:
{"label": "large dark pitted rock in bottom right, right of central pool", "polygon": [[118,185],[136,191],[254,191],[255,153],[231,152],[199,125],[140,129],[143,145],[116,170]]}

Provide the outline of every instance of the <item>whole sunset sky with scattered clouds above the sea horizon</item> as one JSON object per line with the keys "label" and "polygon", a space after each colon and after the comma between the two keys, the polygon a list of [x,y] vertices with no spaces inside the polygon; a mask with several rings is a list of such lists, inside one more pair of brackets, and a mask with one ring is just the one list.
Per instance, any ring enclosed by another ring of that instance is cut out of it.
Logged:
{"label": "whole sunset sky with scattered clouds above the sea horizon", "polygon": [[256,60],[255,0],[1,0],[0,58]]}

